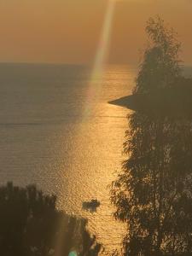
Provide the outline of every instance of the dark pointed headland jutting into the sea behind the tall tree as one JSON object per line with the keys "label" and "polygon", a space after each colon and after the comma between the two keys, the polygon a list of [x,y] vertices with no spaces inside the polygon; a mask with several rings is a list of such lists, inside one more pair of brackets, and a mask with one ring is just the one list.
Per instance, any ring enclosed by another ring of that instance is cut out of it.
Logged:
{"label": "dark pointed headland jutting into the sea behind the tall tree", "polygon": [[179,79],[170,88],[154,89],[143,94],[133,93],[108,103],[158,115],[189,115],[192,113],[192,79]]}

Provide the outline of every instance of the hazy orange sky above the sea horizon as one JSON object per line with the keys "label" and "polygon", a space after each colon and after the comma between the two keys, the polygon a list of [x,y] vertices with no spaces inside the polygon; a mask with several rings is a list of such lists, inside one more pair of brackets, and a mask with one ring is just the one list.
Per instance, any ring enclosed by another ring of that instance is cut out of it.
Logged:
{"label": "hazy orange sky above the sea horizon", "polygon": [[[92,63],[107,0],[0,0],[0,61]],[[160,15],[192,64],[191,0],[118,0],[109,61],[139,60],[145,21]]]}

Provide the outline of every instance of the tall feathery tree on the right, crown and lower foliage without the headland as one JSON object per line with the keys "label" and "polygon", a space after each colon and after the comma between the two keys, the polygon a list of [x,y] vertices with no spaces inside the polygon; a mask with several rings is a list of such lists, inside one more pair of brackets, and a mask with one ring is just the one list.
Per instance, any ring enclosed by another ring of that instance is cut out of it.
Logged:
{"label": "tall feathery tree on the right, crown and lower foliage without the headland", "polygon": [[[135,95],[168,89],[180,77],[172,30],[158,18],[148,21],[147,32],[152,45],[144,54]],[[192,255],[192,120],[184,113],[178,118],[142,109],[128,120],[128,159],[111,195],[115,218],[127,224],[123,254]]]}

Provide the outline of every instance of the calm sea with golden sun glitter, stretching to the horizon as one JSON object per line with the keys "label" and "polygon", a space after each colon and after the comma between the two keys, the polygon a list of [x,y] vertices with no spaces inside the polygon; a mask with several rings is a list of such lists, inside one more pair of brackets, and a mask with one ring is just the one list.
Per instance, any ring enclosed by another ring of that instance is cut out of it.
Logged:
{"label": "calm sea with golden sun glitter, stretching to the horizon", "polygon": [[[110,186],[121,170],[128,109],[109,101],[131,94],[137,68],[0,64],[0,184],[36,184],[59,210],[88,218],[108,255],[125,226],[113,218]],[[82,208],[97,199],[96,212]]]}

